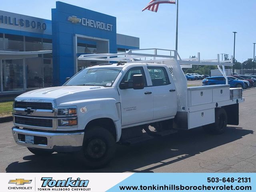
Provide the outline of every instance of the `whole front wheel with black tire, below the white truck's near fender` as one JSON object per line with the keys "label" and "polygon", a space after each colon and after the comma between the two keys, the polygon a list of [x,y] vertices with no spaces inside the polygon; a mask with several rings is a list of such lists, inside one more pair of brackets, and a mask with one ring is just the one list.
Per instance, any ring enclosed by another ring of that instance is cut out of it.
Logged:
{"label": "whole front wheel with black tire, below the white truck's near fender", "polygon": [[108,164],[116,152],[116,140],[105,128],[94,126],[86,130],[83,144],[84,161],[90,168]]}

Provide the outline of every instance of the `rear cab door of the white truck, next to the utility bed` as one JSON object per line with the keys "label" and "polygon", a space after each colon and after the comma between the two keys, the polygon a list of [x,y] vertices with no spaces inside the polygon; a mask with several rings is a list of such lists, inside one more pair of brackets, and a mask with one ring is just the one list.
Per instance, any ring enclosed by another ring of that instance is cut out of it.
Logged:
{"label": "rear cab door of the white truck, next to the utility bed", "polygon": [[154,115],[153,120],[176,115],[177,94],[165,67],[148,66],[152,81]]}

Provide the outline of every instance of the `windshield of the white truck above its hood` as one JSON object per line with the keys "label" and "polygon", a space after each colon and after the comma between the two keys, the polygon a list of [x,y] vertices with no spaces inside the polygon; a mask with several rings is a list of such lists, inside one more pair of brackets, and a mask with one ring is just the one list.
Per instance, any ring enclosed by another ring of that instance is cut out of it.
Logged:
{"label": "windshield of the white truck above its hood", "polygon": [[86,68],[73,76],[64,86],[112,86],[122,68]]}

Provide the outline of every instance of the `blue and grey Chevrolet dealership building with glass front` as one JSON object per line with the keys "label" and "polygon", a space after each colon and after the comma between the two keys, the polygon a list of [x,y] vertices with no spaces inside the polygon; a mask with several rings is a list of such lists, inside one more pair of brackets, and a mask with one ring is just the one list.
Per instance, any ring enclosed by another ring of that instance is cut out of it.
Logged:
{"label": "blue and grey Chevrolet dealership building with glass front", "polygon": [[116,17],[56,2],[52,20],[0,11],[0,95],[58,86],[96,61],[81,54],[137,49],[137,37],[116,33]]}

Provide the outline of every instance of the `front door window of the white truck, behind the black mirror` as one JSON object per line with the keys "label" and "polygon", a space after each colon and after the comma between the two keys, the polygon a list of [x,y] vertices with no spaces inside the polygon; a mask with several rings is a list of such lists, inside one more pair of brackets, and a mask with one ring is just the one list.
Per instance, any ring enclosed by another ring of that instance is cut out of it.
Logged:
{"label": "front door window of the white truck, behind the black mirror", "polygon": [[128,83],[128,89],[132,88],[132,81],[133,81],[133,76],[134,75],[143,75],[143,77],[144,77],[144,87],[147,86],[147,81],[146,81],[146,77],[145,77],[143,67],[133,67],[133,68],[129,69],[126,72],[126,74],[124,75],[124,78],[122,79],[121,83],[130,82],[130,83]]}

